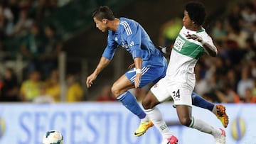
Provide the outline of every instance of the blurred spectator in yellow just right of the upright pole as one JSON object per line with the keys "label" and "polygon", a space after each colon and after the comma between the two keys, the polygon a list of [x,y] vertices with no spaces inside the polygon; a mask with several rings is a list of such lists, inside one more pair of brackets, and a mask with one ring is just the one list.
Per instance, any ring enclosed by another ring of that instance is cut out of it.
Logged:
{"label": "blurred spectator in yellow just right of the upright pole", "polygon": [[83,91],[81,84],[77,82],[73,74],[69,74],[67,77],[67,102],[77,102],[83,100]]}

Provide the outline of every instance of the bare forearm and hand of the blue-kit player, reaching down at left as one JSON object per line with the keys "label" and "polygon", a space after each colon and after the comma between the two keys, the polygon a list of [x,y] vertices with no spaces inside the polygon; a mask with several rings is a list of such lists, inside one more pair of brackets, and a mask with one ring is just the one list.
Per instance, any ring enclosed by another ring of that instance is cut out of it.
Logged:
{"label": "bare forearm and hand of the blue-kit player, reaching down at left", "polygon": [[86,79],[87,88],[92,87],[92,82],[97,78],[97,75],[110,64],[110,60],[105,57],[100,58],[100,62],[98,63],[96,69],[90,74]]}

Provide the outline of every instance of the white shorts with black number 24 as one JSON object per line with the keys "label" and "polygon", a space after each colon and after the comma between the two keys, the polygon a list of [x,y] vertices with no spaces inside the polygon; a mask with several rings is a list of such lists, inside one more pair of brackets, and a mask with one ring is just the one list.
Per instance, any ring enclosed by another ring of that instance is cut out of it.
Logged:
{"label": "white shorts with black number 24", "polygon": [[166,77],[164,77],[154,84],[150,90],[161,103],[172,98],[174,105],[192,106],[191,94],[193,89],[188,87],[187,84],[168,82]]}

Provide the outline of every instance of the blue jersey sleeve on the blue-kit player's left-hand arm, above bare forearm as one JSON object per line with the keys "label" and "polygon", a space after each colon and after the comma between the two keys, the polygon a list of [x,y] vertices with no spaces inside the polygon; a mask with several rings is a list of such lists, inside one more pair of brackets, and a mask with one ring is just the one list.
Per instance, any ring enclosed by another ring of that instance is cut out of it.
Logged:
{"label": "blue jersey sleeve on the blue-kit player's left-hand arm, above bare forearm", "polygon": [[105,57],[109,60],[112,60],[114,57],[114,52],[117,50],[118,44],[113,40],[110,32],[107,36],[107,47],[105,48],[104,52],[102,53],[102,57]]}

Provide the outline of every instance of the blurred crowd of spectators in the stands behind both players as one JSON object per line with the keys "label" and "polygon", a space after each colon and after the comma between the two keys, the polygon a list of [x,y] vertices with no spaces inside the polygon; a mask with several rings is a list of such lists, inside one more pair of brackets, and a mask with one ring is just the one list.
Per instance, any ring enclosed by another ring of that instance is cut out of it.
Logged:
{"label": "blurred crowd of spectators in the stands behind both players", "polygon": [[[11,54],[4,42],[15,37],[27,62],[22,82],[18,82],[14,69],[1,67],[0,101],[60,101],[57,60],[63,42],[51,23],[40,23],[65,3],[68,0],[0,0],[0,61],[9,60]],[[218,48],[218,57],[201,57],[194,91],[217,103],[256,103],[256,0],[234,1],[225,13],[208,21],[214,22],[207,31]],[[159,45],[173,44],[181,27],[179,17],[164,23]],[[85,100],[76,75],[66,77],[65,87],[66,101]],[[102,86],[101,91],[96,101],[115,101],[110,86]],[[139,101],[147,91],[131,90]]]}

